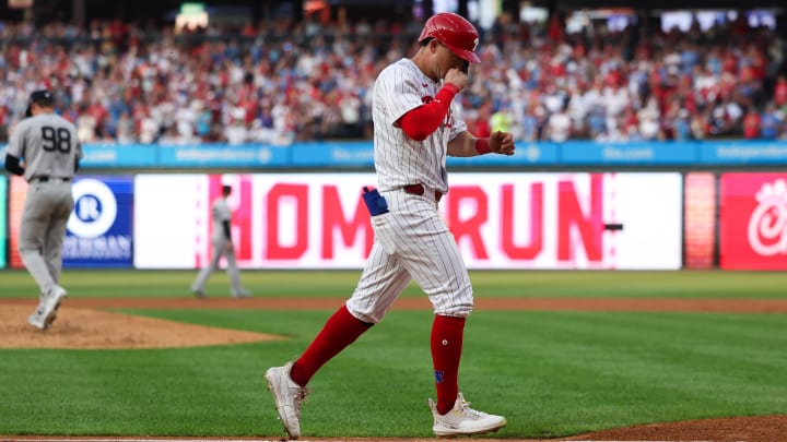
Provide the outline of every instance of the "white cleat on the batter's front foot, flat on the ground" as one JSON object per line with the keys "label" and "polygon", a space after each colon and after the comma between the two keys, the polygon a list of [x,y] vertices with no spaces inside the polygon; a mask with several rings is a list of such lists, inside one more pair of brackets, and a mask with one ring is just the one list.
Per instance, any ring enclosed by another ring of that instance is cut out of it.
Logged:
{"label": "white cleat on the batter's front foot, flat on the ground", "polygon": [[454,409],[441,415],[437,413],[437,405],[428,399],[434,426],[432,430],[437,437],[457,437],[481,434],[497,431],[505,427],[506,420],[503,416],[489,415],[470,408],[470,403],[465,401],[461,393],[457,394]]}

